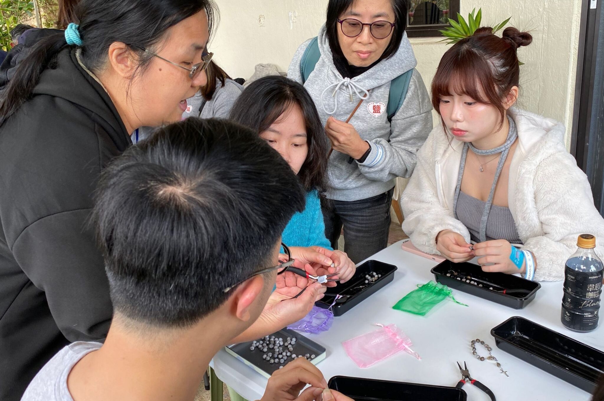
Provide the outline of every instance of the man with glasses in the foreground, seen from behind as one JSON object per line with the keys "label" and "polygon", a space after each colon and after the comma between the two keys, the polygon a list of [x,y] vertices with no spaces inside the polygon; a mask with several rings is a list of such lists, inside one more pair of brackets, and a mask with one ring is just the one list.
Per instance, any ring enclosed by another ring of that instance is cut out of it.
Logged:
{"label": "man with glasses in the foreground, seen from behind", "polygon": [[[303,207],[287,163],[241,125],[187,119],[130,147],[103,172],[92,213],[114,305],[107,338],[64,347],[22,401],[193,400],[210,359],[293,274],[280,236]],[[352,401],[326,388],[300,358],[262,400]]]}

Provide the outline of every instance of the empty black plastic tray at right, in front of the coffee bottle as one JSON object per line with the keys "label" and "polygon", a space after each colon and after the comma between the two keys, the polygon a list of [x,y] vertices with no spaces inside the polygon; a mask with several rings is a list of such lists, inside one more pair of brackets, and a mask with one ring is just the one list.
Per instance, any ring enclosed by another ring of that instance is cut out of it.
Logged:
{"label": "empty black plastic tray at right, in front of the coffee bottle", "polygon": [[604,373],[604,352],[515,316],[491,330],[495,344],[559,379],[593,393]]}

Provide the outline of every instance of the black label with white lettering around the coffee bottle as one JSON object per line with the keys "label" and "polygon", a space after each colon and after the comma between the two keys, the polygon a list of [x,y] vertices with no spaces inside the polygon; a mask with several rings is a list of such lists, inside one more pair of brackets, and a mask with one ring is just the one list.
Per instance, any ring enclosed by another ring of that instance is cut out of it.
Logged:
{"label": "black label with white lettering around the coffee bottle", "polygon": [[602,294],[602,270],[565,268],[562,323],[569,329],[589,331],[597,327]]}

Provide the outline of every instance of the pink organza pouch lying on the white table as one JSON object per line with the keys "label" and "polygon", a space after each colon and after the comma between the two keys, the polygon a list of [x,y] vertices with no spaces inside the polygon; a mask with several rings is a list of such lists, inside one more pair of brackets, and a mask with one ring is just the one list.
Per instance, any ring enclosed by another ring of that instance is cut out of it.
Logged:
{"label": "pink organza pouch lying on the white table", "polygon": [[420,358],[411,346],[411,339],[396,324],[376,324],[379,329],[344,341],[344,350],[360,368],[368,368],[379,361],[390,358],[396,353],[406,351],[417,359]]}

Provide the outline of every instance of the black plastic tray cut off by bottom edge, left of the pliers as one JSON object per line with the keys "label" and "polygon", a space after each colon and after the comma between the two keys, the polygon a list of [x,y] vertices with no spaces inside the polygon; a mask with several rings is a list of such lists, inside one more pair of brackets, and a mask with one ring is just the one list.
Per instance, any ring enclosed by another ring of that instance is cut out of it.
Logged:
{"label": "black plastic tray cut off by bottom edge, left of the pliers", "polygon": [[466,401],[461,388],[333,376],[329,388],[355,401]]}

